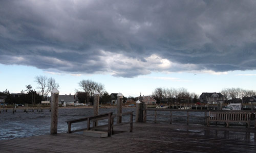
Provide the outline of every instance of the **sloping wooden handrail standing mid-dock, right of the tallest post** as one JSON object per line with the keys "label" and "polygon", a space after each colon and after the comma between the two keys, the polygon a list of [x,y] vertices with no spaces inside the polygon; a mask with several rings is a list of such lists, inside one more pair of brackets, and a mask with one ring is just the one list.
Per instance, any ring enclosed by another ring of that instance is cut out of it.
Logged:
{"label": "sloping wooden handrail standing mid-dock, right of the tallest post", "polygon": [[[130,115],[129,122],[114,124],[115,117],[124,116],[124,115]],[[99,121],[99,120],[103,120],[103,119],[108,119],[108,124],[91,127],[91,125],[90,125],[91,121]],[[87,128],[71,131],[72,123],[77,123],[77,122],[82,122],[82,121],[87,121]],[[79,131],[84,131],[84,130],[96,130],[96,129],[102,129],[102,128],[108,127],[108,136],[110,137],[111,134],[113,134],[114,126],[130,124],[130,132],[133,131],[133,112],[126,112],[126,113],[122,113],[120,115],[113,115],[113,113],[110,112],[110,113],[94,115],[94,116],[84,117],[84,118],[75,119],[75,120],[68,120],[66,122],[68,123],[68,132],[67,133],[74,133],[74,132],[79,132]]]}

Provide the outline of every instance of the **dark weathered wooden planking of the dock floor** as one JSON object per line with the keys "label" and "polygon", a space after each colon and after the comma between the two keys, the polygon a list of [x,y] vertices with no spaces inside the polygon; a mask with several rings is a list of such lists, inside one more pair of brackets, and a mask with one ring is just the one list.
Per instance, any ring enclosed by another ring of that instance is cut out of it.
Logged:
{"label": "dark weathered wooden planking of the dock floor", "polygon": [[134,123],[106,138],[60,133],[0,140],[0,152],[255,152],[256,131],[244,127]]}

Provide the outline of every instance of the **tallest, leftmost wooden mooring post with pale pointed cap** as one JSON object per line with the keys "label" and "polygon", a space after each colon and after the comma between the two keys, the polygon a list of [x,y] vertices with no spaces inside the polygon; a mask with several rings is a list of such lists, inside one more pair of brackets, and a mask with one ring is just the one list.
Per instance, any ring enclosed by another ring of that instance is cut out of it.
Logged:
{"label": "tallest, leftmost wooden mooring post with pale pointed cap", "polygon": [[52,91],[52,106],[51,106],[51,134],[57,134],[58,129],[58,101],[59,91],[54,88]]}

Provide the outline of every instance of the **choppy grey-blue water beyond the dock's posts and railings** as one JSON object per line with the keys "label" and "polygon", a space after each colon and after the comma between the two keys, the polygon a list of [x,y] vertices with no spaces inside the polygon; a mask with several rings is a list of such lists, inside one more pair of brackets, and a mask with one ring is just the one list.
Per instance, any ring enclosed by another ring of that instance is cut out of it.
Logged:
{"label": "choppy grey-blue water beyond the dock's posts and railings", "polygon": [[[99,109],[99,114],[113,112],[116,114],[116,108]],[[136,108],[123,108],[122,112],[134,111],[133,121],[135,121]],[[147,122],[154,122],[155,111],[147,111]],[[66,133],[68,130],[67,120],[79,119],[93,115],[92,108],[59,108],[58,110],[58,133]],[[173,112],[174,123],[186,123],[186,112]],[[201,118],[191,117],[197,116]],[[204,124],[204,112],[189,112],[189,124]],[[122,117],[123,122],[130,121],[130,115]],[[116,118],[114,123],[116,122]],[[169,122],[169,111],[158,111],[157,122]],[[107,124],[108,120],[99,121],[99,125]],[[22,138],[36,135],[50,134],[51,113],[49,110],[43,112],[28,112],[17,110],[14,114],[11,110],[0,114],[0,140]],[[92,126],[92,125],[91,125]],[[72,131],[84,129],[87,127],[87,121],[72,124]]]}

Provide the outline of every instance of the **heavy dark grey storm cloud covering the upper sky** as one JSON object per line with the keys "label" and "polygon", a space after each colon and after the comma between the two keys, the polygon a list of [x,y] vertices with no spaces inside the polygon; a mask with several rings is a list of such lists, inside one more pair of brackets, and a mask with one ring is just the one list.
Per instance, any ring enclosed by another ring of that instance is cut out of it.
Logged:
{"label": "heavy dark grey storm cloud covering the upper sky", "polygon": [[255,7],[255,1],[1,1],[0,63],[129,78],[253,70]]}

